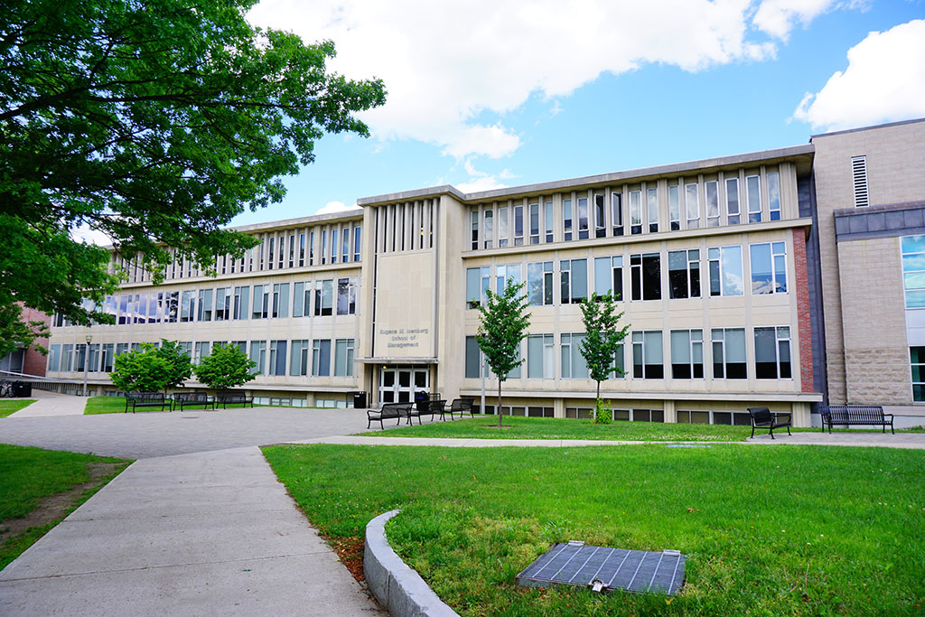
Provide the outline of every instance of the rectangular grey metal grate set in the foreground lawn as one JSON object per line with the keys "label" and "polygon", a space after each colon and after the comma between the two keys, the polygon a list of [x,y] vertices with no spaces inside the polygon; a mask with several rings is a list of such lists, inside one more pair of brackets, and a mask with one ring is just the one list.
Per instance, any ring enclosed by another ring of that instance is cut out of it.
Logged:
{"label": "rectangular grey metal grate set in the foreground lawn", "polygon": [[559,543],[517,574],[520,586],[588,586],[673,596],[685,582],[685,556],[677,550],[611,549],[572,540]]}

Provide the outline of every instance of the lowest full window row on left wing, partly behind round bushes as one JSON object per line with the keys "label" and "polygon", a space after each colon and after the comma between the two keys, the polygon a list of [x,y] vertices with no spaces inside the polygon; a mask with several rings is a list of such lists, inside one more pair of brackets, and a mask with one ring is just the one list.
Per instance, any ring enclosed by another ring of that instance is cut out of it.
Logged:
{"label": "lowest full window row on left wing, partly behind round bushes", "polygon": [[[224,341],[179,341],[191,356],[193,364],[209,355],[213,345]],[[287,358],[290,376],[331,376],[331,349],[334,350],[334,376],[353,375],[353,339],[302,339],[302,340],[233,340],[232,344],[247,352],[257,363],[254,375],[287,375]],[[77,343],[55,344],[48,348],[49,372],[78,372],[84,368],[90,373],[112,373],[117,355],[141,349],[141,343]]]}

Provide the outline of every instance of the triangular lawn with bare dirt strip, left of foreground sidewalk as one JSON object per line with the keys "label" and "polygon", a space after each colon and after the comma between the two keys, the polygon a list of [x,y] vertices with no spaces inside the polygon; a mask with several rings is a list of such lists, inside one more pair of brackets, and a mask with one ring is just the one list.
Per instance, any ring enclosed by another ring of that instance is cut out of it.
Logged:
{"label": "triangular lawn with bare dirt strip, left of foreground sidewalk", "polygon": [[0,444],[0,569],[129,463]]}

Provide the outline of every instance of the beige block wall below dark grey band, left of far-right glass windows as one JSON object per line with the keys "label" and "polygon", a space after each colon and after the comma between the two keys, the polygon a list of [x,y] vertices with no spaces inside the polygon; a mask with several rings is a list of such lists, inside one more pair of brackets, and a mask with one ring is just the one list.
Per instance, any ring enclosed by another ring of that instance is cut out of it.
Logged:
{"label": "beige block wall below dark grey band, left of far-right glass windows", "polygon": [[838,245],[849,402],[911,402],[900,259],[897,238]]}

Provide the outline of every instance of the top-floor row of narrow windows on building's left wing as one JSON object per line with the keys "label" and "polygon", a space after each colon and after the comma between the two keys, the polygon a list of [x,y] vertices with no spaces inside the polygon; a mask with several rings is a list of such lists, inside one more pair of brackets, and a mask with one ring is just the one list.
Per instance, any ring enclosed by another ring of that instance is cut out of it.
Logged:
{"label": "top-floor row of narrow windows on building's left wing", "polygon": [[[361,226],[358,221],[308,228],[255,234],[260,244],[247,250],[239,258],[230,255],[216,257],[216,274],[263,272],[306,265],[347,264],[360,261]],[[173,252],[176,253],[176,252]],[[126,273],[126,282],[151,280],[142,268],[142,259],[113,254],[112,266]],[[205,268],[187,259],[175,257],[167,266],[165,278],[193,278],[203,274]]]}

